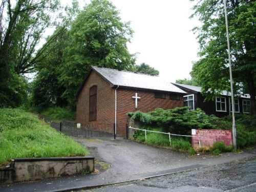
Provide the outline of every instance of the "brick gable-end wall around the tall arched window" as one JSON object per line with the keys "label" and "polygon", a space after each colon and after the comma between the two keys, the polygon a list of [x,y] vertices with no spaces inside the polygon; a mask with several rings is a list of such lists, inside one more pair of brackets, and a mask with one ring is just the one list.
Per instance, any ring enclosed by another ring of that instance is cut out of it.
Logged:
{"label": "brick gable-end wall around the tall arched window", "polygon": [[[97,120],[89,121],[89,91],[97,86]],[[92,71],[82,91],[76,106],[76,121],[82,124],[114,123],[115,121],[115,90],[111,84]]]}

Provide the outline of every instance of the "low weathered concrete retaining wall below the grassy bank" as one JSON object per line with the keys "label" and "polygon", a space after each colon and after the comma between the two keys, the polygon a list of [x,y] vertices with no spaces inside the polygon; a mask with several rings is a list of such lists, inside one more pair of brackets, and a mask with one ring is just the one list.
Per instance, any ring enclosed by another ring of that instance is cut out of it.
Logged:
{"label": "low weathered concrete retaining wall below the grassy bank", "polygon": [[94,157],[14,159],[0,169],[0,183],[32,181],[94,172]]}

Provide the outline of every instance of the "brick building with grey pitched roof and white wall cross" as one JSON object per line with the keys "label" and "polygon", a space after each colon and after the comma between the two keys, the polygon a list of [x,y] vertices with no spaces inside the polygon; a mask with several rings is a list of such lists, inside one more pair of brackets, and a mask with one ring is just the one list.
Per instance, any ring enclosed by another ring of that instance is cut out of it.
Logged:
{"label": "brick building with grey pitched roof and white wall cross", "polygon": [[92,67],[77,94],[76,121],[126,123],[128,112],[183,106],[184,94],[159,76]]}

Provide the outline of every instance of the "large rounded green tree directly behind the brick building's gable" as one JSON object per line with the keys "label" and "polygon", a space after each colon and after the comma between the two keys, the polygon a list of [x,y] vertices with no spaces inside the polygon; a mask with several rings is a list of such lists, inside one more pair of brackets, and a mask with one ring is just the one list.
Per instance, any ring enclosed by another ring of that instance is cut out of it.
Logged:
{"label": "large rounded green tree directly behind the brick building's gable", "polygon": [[133,31],[123,23],[115,6],[93,0],[82,10],[69,31],[60,81],[63,97],[75,105],[76,92],[91,66],[130,70],[135,59],[127,50]]}

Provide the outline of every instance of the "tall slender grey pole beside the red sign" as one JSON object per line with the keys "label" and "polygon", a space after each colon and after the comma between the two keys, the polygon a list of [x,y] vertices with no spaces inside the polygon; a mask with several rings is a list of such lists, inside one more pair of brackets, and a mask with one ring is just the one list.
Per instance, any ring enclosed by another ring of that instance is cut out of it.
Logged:
{"label": "tall slender grey pole beside the red sign", "polygon": [[236,119],[234,118],[234,93],[233,93],[233,79],[232,79],[232,69],[231,69],[231,56],[230,56],[230,45],[229,45],[228,20],[227,20],[227,2],[226,2],[226,0],[224,0],[224,12],[225,12],[225,22],[226,22],[229,75],[230,75],[230,87],[231,87],[232,136],[233,136],[234,150],[237,150],[237,129],[236,129]]}

